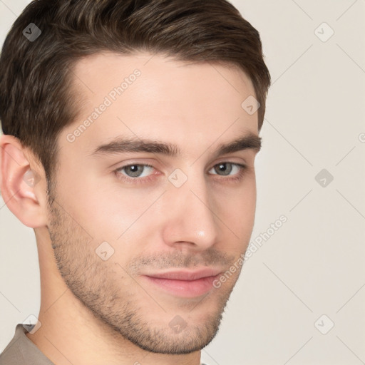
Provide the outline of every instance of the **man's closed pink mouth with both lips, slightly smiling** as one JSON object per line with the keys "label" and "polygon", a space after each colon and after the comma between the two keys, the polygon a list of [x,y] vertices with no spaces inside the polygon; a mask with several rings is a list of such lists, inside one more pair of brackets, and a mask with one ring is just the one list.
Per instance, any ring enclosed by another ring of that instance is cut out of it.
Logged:
{"label": "man's closed pink mouth with both lips, slightly smiling", "polygon": [[143,278],[160,290],[176,297],[195,298],[210,292],[213,282],[220,276],[221,270],[202,268],[198,270],[174,270],[145,274]]}

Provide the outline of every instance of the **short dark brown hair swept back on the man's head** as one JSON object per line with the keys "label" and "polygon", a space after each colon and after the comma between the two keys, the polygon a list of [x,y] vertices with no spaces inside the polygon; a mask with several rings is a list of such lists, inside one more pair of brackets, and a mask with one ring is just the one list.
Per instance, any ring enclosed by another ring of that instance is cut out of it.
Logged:
{"label": "short dark brown hair swept back on the man's head", "polygon": [[[41,29],[35,41],[23,31]],[[0,58],[0,119],[42,163],[48,184],[57,137],[78,116],[72,67],[100,51],[148,51],[181,61],[233,63],[250,77],[262,127],[270,75],[259,32],[226,0],[38,0],[6,36]]]}

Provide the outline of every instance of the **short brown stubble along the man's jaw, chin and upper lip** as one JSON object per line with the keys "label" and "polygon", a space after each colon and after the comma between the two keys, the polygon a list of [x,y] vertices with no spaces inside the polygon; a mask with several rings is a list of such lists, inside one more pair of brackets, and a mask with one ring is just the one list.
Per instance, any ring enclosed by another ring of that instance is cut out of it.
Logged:
{"label": "short brown stubble along the man's jaw, chin and upper lip", "polygon": [[[103,262],[91,249],[91,237],[63,210],[53,193],[54,190],[50,190],[48,196],[48,231],[58,271],[76,299],[96,318],[101,331],[113,338],[121,335],[141,349],[160,354],[189,354],[201,350],[214,339],[239,273],[237,277],[231,277],[230,287],[226,285],[224,290],[222,287],[215,289],[197,302],[182,301],[176,306],[177,311],[183,309],[185,313],[189,307],[185,318],[187,327],[180,333],[175,333],[168,326],[173,318],[163,309],[160,310],[159,318],[146,318],[148,308],[141,306],[147,303],[149,298],[143,300],[143,296],[139,296],[142,300],[138,302],[131,294],[133,290],[126,289],[125,292],[121,292],[118,282],[127,280],[135,286],[130,278],[137,274],[143,265],[153,264],[153,267],[159,268],[193,267],[196,264],[209,266],[215,263],[227,265],[234,261],[234,257],[227,257],[225,253],[216,250],[204,252],[199,257],[182,257],[179,252],[169,257],[135,257],[128,264],[128,270],[119,271],[120,274],[116,277],[110,263]],[[192,323],[193,316],[189,319],[190,312],[193,314],[194,310],[202,310],[202,313],[205,313],[202,308],[208,300],[212,300],[211,295],[217,294],[216,290],[220,290],[220,295],[215,297],[215,311],[209,315],[205,314],[203,324]],[[143,292],[142,289],[140,291]],[[159,319],[161,324],[156,324]]]}

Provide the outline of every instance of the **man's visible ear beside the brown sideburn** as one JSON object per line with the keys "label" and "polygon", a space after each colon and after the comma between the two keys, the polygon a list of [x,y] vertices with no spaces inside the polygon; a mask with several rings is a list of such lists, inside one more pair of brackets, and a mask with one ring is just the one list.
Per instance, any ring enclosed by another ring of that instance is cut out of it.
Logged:
{"label": "man's visible ear beside the brown sideburn", "polygon": [[6,206],[27,227],[46,225],[46,179],[43,168],[18,138],[0,136],[0,189]]}

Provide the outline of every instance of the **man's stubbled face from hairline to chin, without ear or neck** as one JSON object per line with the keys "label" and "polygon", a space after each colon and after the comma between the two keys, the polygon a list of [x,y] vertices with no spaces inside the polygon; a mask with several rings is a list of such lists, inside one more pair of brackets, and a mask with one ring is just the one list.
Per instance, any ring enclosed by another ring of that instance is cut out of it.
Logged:
{"label": "man's stubbled face from hairline to chin, without ear or neck", "polygon": [[[257,136],[257,113],[241,106],[252,83],[237,68],[143,53],[87,57],[74,75],[84,102],[58,137],[50,197],[58,269],[103,325],[141,348],[202,349],[254,223],[257,150],[217,154]],[[175,154],[99,148],[117,138],[175,145]]]}

